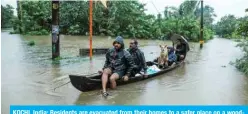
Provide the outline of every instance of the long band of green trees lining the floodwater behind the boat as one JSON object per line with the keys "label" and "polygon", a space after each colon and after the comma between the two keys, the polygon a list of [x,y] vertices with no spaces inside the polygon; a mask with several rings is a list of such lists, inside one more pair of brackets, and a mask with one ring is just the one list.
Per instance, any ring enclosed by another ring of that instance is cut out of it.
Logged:
{"label": "long band of green trees lining the floodwater behind the boat", "polygon": [[[161,39],[178,33],[191,41],[199,40],[200,9],[197,1],[185,1],[179,8],[167,6],[164,17],[161,14],[157,17],[146,14],[145,4],[138,1],[108,1],[107,5],[106,9],[101,2],[94,1],[93,35]],[[19,1],[17,9],[19,18],[13,21],[15,31],[30,35],[50,32],[50,1]],[[88,1],[61,1],[59,11],[61,34],[88,35]],[[212,37],[214,10],[210,6],[205,6],[204,12],[206,16],[204,39],[207,40]]]}

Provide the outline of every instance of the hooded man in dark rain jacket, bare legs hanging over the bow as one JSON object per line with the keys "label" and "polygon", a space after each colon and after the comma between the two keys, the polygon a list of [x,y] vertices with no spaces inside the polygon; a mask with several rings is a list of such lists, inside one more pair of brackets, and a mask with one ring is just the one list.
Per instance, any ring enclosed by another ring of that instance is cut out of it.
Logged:
{"label": "hooded man in dark rain jacket, bare legs hanging over the bow", "polygon": [[[113,42],[114,48],[111,48],[106,53],[106,60],[102,72],[102,94],[108,96],[106,86],[108,77],[110,76],[111,88],[116,88],[116,80],[128,80],[131,71],[134,67],[134,62],[128,51],[124,49],[124,42],[121,36],[118,36]],[[125,76],[124,76],[125,75]]]}

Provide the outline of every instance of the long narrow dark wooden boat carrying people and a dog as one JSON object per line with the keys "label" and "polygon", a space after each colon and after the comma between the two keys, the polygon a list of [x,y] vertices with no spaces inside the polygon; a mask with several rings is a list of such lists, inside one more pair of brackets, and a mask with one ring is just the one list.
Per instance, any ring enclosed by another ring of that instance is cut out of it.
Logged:
{"label": "long narrow dark wooden boat carrying people and a dog", "polygon": [[[147,66],[152,66],[156,64],[156,62],[146,62]],[[179,67],[183,62],[174,64],[166,69],[161,69],[159,72],[154,74],[149,74],[147,78],[144,78],[143,75],[130,77],[128,81],[117,80],[117,86],[125,85],[129,83],[134,83],[142,80],[146,80],[149,78],[153,78],[159,76],[161,74],[167,73],[177,67]],[[84,75],[69,75],[72,85],[81,92],[92,91],[96,89],[102,88],[101,74],[95,74],[92,76],[84,76]],[[107,87],[110,87],[110,83],[108,83]]]}

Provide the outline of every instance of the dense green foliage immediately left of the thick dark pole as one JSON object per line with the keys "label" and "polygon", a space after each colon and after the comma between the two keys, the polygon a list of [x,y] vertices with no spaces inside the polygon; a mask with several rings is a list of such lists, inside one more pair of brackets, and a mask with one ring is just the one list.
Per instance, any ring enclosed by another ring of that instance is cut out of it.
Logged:
{"label": "dense green foliage immediately left of the thick dark pole", "polygon": [[18,19],[13,20],[14,30],[22,34],[46,35],[50,32],[50,1],[18,1]]}

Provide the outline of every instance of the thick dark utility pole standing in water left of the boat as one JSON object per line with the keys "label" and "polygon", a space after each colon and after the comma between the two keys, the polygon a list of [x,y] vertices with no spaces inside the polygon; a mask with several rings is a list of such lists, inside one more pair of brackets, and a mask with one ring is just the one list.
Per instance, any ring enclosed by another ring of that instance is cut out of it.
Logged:
{"label": "thick dark utility pole standing in water left of the boat", "polygon": [[59,0],[52,1],[52,59],[60,56],[59,50]]}

